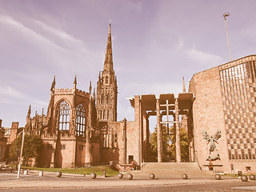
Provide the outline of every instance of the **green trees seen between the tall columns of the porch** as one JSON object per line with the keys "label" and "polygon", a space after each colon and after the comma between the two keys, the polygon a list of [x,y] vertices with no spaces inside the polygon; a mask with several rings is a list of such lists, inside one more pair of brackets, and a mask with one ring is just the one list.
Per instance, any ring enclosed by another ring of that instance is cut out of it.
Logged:
{"label": "green trees seen between the tall columns of the porch", "polygon": [[[175,159],[175,142],[176,134],[174,132],[174,126],[170,127],[170,133],[166,134],[166,125],[162,125],[162,144],[163,144],[163,154],[165,157],[170,157],[170,159]],[[180,130],[180,141],[181,141],[181,156],[183,162],[189,161],[189,146],[188,146],[188,136],[186,127],[181,127]],[[154,128],[154,132],[150,134],[150,161],[156,159],[158,153],[158,137],[157,137],[157,128]]]}

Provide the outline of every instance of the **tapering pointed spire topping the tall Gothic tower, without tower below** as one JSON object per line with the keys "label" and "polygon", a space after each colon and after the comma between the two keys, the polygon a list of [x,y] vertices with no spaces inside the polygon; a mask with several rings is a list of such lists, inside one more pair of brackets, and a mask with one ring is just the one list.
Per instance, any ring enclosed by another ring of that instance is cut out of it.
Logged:
{"label": "tapering pointed spire topping the tall Gothic tower, without tower below", "polygon": [[111,41],[111,24],[109,29],[109,35],[106,42],[106,56],[104,62],[104,70],[112,71],[113,70],[113,58],[112,58],[112,41]]}

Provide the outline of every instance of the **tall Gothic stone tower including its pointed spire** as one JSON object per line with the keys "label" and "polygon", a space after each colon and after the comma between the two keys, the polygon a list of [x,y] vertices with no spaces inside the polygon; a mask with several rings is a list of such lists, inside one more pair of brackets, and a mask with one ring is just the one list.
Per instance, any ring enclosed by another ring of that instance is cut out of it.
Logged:
{"label": "tall Gothic stone tower including its pointed spire", "polygon": [[104,69],[98,75],[97,115],[100,122],[117,121],[118,86],[113,69],[111,25],[106,43]]}

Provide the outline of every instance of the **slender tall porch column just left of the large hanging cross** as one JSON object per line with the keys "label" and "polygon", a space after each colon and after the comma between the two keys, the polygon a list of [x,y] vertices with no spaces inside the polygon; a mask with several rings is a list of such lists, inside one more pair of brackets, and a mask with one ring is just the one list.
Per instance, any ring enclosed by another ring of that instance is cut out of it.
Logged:
{"label": "slender tall porch column just left of the large hanging cross", "polygon": [[160,114],[160,103],[157,99],[156,103],[157,110],[157,135],[158,135],[158,162],[162,162],[162,126],[161,126],[161,114]]}

